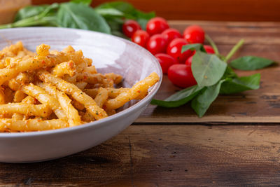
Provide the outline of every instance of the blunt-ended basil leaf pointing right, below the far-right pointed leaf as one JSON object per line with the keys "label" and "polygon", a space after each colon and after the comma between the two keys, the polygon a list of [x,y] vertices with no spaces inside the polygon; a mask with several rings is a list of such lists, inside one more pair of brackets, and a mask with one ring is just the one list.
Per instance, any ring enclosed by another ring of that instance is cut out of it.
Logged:
{"label": "blunt-ended basil leaf pointing right, below the far-right pointed leaf", "polygon": [[257,90],[260,88],[260,74],[229,78],[221,86],[221,94],[234,94],[246,90]]}

